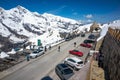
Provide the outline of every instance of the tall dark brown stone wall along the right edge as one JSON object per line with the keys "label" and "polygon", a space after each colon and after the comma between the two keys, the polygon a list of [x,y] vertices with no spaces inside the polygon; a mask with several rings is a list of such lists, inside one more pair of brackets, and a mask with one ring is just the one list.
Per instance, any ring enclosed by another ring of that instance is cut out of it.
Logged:
{"label": "tall dark brown stone wall along the right edge", "polygon": [[120,80],[120,30],[109,28],[100,48],[106,80]]}

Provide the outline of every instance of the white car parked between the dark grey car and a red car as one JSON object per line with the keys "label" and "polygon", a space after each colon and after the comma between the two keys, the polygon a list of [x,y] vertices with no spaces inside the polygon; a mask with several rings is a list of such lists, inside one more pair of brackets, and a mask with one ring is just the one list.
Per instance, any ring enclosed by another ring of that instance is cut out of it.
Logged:
{"label": "white car parked between the dark grey car and a red car", "polygon": [[70,65],[75,70],[79,70],[84,66],[83,61],[77,57],[68,57],[64,60],[64,63]]}

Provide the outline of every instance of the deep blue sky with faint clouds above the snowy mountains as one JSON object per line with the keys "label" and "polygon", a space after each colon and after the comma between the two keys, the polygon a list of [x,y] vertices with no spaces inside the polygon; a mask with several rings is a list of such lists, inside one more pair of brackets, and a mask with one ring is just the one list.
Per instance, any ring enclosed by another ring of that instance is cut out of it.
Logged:
{"label": "deep blue sky with faint clouds above the snowy mountains", "polygon": [[17,5],[40,14],[47,12],[88,22],[120,19],[120,0],[0,0],[0,7],[7,10]]}

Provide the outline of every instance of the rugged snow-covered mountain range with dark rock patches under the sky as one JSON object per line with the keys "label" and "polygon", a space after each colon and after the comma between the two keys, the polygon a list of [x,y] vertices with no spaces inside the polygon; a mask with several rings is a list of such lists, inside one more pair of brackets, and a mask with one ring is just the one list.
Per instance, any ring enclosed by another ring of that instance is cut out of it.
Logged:
{"label": "rugged snow-covered mountain range with dark rock patches under the sky", "polygon": [[10,10],[0,8],[0,45],[4,46],[4,39],[7,39],[5,42],[19,43],[45,33],[52,35],[57,32],[55,34],[59,36],[59,32],[70,32],[80,24],[76,20],[48,13],[30,12],[22,6]]}

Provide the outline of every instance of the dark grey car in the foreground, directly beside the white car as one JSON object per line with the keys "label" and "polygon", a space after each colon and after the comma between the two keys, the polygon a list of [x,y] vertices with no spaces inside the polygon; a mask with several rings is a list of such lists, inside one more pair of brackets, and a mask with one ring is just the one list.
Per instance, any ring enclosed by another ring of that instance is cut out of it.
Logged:
{"label": "dark grey car in the foreground, directly beside the white car", "polygon": [[55,67],[56,74],[60,77],[61,80],[68,80],[74,72],[68,65],[61,63]]}

